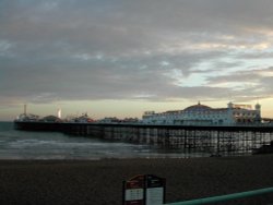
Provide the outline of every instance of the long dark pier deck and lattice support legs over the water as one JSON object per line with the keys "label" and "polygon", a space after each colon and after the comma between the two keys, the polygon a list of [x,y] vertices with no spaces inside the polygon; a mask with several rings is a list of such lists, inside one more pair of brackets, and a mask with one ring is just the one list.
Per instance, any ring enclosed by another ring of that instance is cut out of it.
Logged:
{"label": "long dark pier deck and lattice support legs over the water", "polygon": [[15,121],[14,126],[17,130],[62,132],[215,156],[251,154],[273,141],[273,126],[262,124],[221,126]]}

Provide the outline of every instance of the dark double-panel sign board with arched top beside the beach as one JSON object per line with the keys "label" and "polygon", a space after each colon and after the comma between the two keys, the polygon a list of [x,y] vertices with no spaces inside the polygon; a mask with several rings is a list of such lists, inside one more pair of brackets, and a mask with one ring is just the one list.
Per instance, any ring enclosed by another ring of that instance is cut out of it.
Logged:
{"label": "dark double-panel sign board with arched top beside the beach", "polygon": [[166,180],[153,174],[135,176],[123,182],[123,205],[163,205]]}

